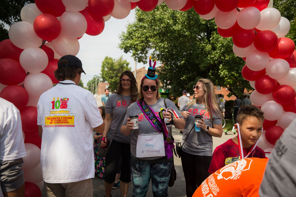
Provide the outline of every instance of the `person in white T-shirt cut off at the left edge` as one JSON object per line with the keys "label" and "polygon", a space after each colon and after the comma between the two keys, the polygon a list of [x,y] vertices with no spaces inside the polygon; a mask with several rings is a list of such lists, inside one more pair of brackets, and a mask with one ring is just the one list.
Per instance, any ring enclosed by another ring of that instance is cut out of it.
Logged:
{"label": "person in white T-shirt cut off at the left edge", "polygon": [[3,98],[0,103],[0,196],[25,196],[22,157],[27,154],[20,111]]}

